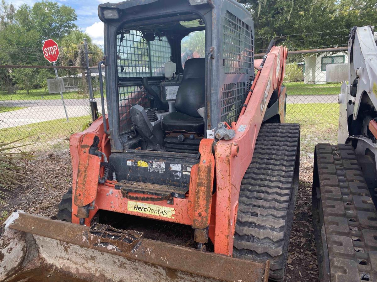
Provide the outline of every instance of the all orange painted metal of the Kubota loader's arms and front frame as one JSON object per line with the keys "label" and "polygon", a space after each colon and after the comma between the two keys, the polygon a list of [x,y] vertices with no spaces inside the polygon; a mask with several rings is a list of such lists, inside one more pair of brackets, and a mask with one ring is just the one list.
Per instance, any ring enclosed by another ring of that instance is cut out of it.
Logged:
{"label": "all orange painted metal of the Kubota loader's arms and front frame", "polygon": [[[107,185],[98,185],[96,189],[93,188],[95,185],[89,186],[89,190],[91,190],[90,197],[88,196],[87,200],[80,204],[88,202],[93,197],[94,191],[96,196],[94,209],[89,212],[89,218],[85,220],[85,224],[90,224],[91,218],[98,209],[104,209],[192,225],[198,229],[209,225],[208,235],[215,246],[215,253],[231,256],[241,180],[253,157],[256,138],[262,124],[267,103],[274,89],[279,88],[279,96],[281,97],[279,97],[279,113],[281,114],[284,110],[283,97],[286,90],[280,86],[284,77],[286,56],[287,49],[283,46],[271,49],[263,69],[259,72],[259,79],[253,84],[253,94],[250,96],[249,103],[243,115],[239,117],[237,124],[231,124],[231,127],[236,131],[236,135],[232,140],[218,141],[215,145],[215,153],[213,155],[213,139],[202,139],[199,147],[201,153],[200,162],[192,167],[190,173],[190,190],[186,194],[185,199],[174,198],[173,205],[168,204],[166,200],[160,202],[132,201],[174,208],[172,217],[161,217],[155,214],[129,210],[128,203],[130,200],[124,198],[120,190],[115,190],[111,186],[113,183],[108,182],[106,183]],[[89,136],[92,136],[89,133],[95,133],[101,139],[100,144],[104,144],[103,146],[105,146],[101,150],[104,150],[106,155],[109,156],[109,143],[102,139],[103,137],[106,138],[106,135],[104,135],[101,121],[99,123],[95,121],[84,133],[87,134],[88,139]],[[75,191],[77,186],[76,180],[79,175],[77,172],[78,163],[81,158],[78,152],[82,150],[79,144],[82,142],[80,136],[84,135],[84,133],[78,133],[78,135],[74,135],[71,138],[71,143],[73,143],[71,144],[71,154],[74,166],[74,195],[78,193]],[[89,144],[90,142],[88,141],[87,143]],[[85,158],[87,158],[86,155]],[[204,160],[205,163],[203,163]],[[81,175],[81,177],[83,176]],[[97,181],[98,172],[96,175],[93,173],[91,177]],[[83,180],[80,181],[80,183],[83,183]],[[90,180],[90,183],[92,181],[94,180]],[[212,194],[213,185],[216,186],[214,194]],[[86,189],[88,189],[87,186]],[[143,194],[138,193],[132,194],[134,196],[143,196]],[[73,205],[72,210],[73,213],[77,211],[77,206]],[[199,212],[201,213],[200,215]],[[72,221],[78,223],[78,218],[72,217]]]}

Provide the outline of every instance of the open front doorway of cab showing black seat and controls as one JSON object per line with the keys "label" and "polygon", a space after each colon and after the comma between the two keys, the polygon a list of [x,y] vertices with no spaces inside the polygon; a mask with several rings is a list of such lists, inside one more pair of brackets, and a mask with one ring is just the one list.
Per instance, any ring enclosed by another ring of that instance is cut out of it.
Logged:
{"label": "open front doorway of cab showing black seat and controls", "polygon": [[205,136],[205,24],[197,14],[118,30],[120,131],[141,150],[197,153]]}

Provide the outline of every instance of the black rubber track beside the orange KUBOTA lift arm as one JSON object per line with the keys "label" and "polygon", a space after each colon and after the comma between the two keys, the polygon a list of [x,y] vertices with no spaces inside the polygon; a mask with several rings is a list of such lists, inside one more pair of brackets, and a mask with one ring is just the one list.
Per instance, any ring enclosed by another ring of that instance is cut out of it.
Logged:
{"label": "black rubber track beside the orange KUBOTA lift arm", "polygon": [[284,279],[299,178],[299,124],[262,124],[241,182],[233,256],[266,261]]}

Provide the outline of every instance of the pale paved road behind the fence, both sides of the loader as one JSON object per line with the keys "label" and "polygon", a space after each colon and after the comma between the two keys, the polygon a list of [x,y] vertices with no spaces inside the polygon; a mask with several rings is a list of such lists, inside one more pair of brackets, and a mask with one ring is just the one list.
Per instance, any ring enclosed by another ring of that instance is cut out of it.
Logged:
{"label": "pale paved road behind the fence, both sides of the loader", "polygon": [[[307,103],[337,103],[337,95],[308,95],[288,96],[288,104]],[[68,117],[82,117],[90,115],[89,102],[86,99],[67,99]],[[101,100],[97,99],[98,108],[101,108]],[[26,107],[17,111],[0,113],[0,128],[37,123],[41,121],[65,118],[63,103],[61,100],[30,100],[30,101],[0,101],[0,106]],[[105,100],[105,112],[107,112]]]}

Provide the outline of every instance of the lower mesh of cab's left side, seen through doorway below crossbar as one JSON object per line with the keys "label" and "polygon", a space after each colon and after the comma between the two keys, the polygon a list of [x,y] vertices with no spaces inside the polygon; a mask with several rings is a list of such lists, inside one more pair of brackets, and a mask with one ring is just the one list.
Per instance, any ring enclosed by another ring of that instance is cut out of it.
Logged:
{"label": "lower mesh of cab's left side, seen through doorway below crossbar", "polygon": [[[150,84],[156,92],[159,92],[158,84]],[[119,87],[119,131],[121,134],[132,130],[130,109],[134,105],[149,107],[148,94],[141,89],[141,85]]]}

